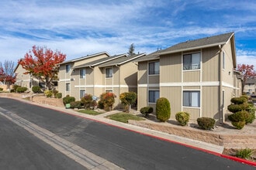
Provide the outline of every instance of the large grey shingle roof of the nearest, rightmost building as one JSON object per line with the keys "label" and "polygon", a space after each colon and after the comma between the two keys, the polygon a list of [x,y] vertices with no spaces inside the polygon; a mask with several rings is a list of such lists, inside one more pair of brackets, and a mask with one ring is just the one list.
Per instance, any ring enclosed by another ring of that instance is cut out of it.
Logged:
{"label": "large grey shingle roof of the nearest, rightmost building", "polygon": [[192,49],[202,49],[211,46],[224,45],[232,36],[234,36],[234,32],[181,42],[167,49],[162,50],[160,55],[168,53],[178,53]]}

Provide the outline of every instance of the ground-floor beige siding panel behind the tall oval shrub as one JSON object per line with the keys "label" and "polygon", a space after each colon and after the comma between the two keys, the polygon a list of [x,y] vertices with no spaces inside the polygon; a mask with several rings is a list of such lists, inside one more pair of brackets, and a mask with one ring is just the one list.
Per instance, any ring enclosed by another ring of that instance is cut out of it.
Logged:
{"label": "ground-floor beige siding panel behind the tall oval shrub", "polygon": [[171,118],[182,110],[182,87],[161,87],[160,97],[165,97],[171,104]]}

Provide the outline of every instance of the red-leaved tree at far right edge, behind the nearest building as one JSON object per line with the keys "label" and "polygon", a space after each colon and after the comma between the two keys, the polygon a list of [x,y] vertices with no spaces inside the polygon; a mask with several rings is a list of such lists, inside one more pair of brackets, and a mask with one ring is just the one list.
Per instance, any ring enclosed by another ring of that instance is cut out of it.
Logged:
{"label": "red-leaved tree at far right edge, behind the nearest building", "polygon": [[254,73],[254,65],[238,64],[237,71],[240,71],[242,73],[242,92],[244,92],[244,85],[247,83],[247,80],[256,76],[256,74]]}

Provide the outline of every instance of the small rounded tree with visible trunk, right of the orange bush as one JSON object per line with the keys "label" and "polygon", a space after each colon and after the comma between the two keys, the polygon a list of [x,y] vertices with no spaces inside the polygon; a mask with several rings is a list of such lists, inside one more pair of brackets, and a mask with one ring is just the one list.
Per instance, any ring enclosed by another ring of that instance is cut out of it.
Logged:
{"label": "small rounded tree with visible trunk, right of the orange bush", "polygon": [[126,112],[130,112],[131,105],[135,104],[137,100],[137,93],[131,91],[131,92],[125,92],[120,94],[120,100],[121,103],[125,106]]}

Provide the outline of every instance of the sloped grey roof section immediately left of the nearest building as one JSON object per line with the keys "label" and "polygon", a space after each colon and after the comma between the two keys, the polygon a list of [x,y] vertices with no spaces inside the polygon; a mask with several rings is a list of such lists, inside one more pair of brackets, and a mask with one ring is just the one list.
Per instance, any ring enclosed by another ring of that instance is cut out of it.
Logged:
{"label": "sloped grey roof section immediately left of the nearest building", "polygon": [[137,55],[133,55],[133,56],[122,56],[122,57],[119,57],[117,59],[112,59],[109,62],[102,63],[102,64],[99,65],[99,67],[120,66],[124,63],[128,63],[130,61],[133,61],[134,59],[138,59],[141,56],[145,56],[145,55],[146,55],[146,53],[141,53],[141,54],[137,54]]}

